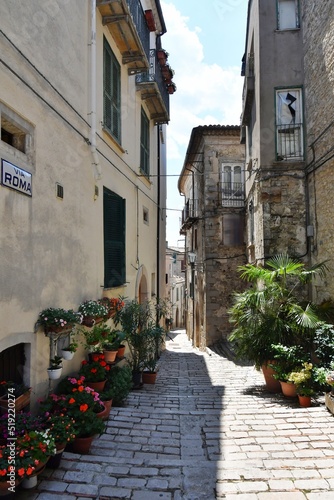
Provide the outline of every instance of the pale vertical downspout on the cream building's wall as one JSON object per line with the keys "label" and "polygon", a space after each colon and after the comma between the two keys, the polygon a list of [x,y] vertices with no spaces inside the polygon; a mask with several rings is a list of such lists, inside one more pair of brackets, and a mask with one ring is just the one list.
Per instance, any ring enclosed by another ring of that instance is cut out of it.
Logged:
{"label": "pale vertical downspout on the cream building's wall", "polygon": [[96,151],[96,0],[91,0],[91,69],[90,69],[90,88],[91,88],[91,112],[90,112],[90,151],[92,154],[92,166],[94,168],[94,178],[101,179],[101,168]]}

